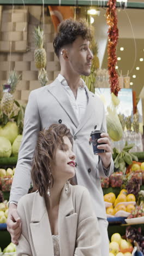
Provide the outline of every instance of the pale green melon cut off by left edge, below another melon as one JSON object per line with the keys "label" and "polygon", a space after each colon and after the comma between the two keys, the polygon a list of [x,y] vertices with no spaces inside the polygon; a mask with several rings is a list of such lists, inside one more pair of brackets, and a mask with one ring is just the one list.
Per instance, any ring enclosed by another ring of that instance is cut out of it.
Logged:
{"label": "pale green melon cut off by left edge, below another melon", "polygon": [[0,158],[9,158],[11,155],[11,143],[10,141],[0,136]]}

